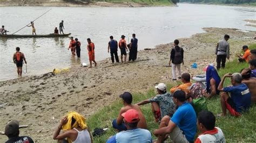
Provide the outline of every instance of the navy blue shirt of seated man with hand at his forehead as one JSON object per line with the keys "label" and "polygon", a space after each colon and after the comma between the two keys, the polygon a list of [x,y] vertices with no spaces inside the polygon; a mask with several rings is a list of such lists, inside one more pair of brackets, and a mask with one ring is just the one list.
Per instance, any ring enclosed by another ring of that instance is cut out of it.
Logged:
{"label": "navy blue shirt of seated man with hand at his forehead", "polygon": [[246,84],[241,83],[238,86],[225,87],[225,92],[231,93],[231,99],[235,105],[235,111],[246,111],[251,105],[251,93]]}

